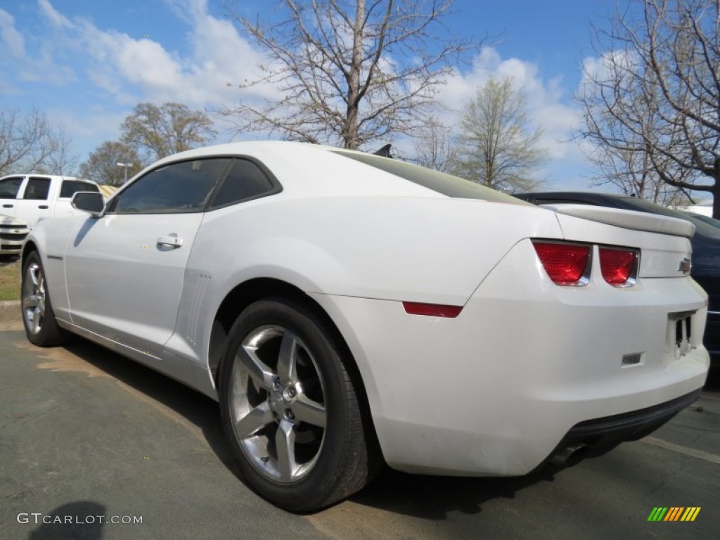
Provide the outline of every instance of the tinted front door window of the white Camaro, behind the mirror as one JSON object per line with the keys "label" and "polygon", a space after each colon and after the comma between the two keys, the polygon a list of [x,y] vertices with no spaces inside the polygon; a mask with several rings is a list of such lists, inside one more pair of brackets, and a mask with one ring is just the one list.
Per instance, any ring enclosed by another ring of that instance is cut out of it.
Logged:
{"label": "tinted front door window of the white Camaro, behind the mirror", "polygon": [[112,199],[109,212],[168,213],[202,210],[230,158],[170,163],[132,182]]}

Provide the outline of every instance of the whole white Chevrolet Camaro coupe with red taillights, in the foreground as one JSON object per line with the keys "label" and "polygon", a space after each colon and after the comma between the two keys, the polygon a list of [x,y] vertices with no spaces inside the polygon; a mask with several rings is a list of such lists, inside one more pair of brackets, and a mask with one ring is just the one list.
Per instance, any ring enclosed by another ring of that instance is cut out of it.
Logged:
{"label": "whole white Chevrolet Camaro coupe with red taillights, in the foreground", "polygon": [[180,153],[73,205],[24,244],[27,337],[76,333],[215,398],[246,482],[288,510],[383,462],[498,476],[597,455],[705,381],[683,220],[285,142]]}

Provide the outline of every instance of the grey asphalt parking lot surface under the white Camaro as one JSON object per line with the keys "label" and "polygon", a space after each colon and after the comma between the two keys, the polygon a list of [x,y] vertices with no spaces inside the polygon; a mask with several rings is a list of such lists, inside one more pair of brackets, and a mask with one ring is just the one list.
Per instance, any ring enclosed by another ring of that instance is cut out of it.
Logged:
{"label": "grey asphalt parking lot surface under the white Camaro", "polygon": [[[569,469],[490,480],[384,471],[351,500],[294,516],[238,479],[215,402],[86,341],[35,348],[18,311],[0,305],[0,539],[720,534],[716,384],[651,437]],[[693,522],[649,522],[655,507],[701,510]]]}

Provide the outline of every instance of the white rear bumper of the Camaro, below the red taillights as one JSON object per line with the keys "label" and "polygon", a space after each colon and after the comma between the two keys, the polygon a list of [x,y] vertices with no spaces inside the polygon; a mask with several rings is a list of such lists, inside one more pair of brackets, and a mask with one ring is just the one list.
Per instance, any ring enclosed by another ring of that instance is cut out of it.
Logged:
{"label": "white rear bumper of the Camaro, below the red taillights", "polygon": [[[608,428],[606,444],[616,444],[613,430],[616,439],[652,431],[679,408],[646,410],[680,407],[675,400],[703,386],[706,294],[692,279],[574,289],[552,284],[541,266],[528,269],[528,260],[529,241],[454,319],[408,315],[400,302],[315,295],[358,363],[391,467],[526,474],[569,433],[602,431],[598,419],[632,418],[627,429],[622,420]],[[691,327],[681,346],[678,320]]]}

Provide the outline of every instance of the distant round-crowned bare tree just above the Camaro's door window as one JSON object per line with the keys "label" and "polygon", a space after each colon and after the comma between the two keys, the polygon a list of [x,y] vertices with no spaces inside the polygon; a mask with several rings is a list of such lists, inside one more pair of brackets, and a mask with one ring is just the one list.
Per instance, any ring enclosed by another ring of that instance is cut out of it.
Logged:
{"label": "distant round-crowned bare tree just above the Camaro's door window", "polygon": [[149,150],[153,160],[207,143],[215,133],[207,114],[172,102],[140,103],[122,122],[122,142]]}

